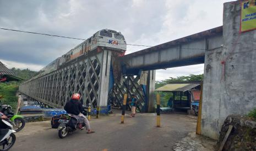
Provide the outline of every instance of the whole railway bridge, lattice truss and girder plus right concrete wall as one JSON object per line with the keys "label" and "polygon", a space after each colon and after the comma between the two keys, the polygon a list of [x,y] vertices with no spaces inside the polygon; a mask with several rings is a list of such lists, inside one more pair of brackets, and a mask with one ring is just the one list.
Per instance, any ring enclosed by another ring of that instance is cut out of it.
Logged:
{"label": "whole railway bridge, lattice truss and girder plus right concrete wall", "polygon": [[221,27],[123,57],[103,48],[24,82],[19,91],[53,107],[79,92],[94,108],[120,107],[128,92],[138,97],[141,112],[154,112],[155,69],[205,63],[201,134],[217,139],[228,115],[256,106],[256,30],[240,32],[241,11],[241,1],[224,3]]}

